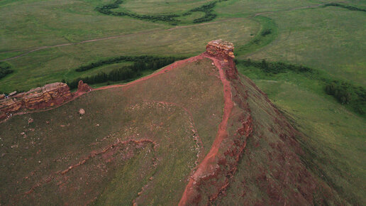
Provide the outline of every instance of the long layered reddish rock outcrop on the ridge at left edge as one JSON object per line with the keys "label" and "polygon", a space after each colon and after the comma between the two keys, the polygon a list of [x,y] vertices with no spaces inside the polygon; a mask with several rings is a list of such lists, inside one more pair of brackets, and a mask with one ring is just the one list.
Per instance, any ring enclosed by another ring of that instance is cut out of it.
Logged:
{"label": "long layered reddish rock outcrop on the ridge at left edge", "polygon": [[43,109],[62,104],[72,99],[70,88],[61,82],[55,82],[43,87],[33,88],[28,92],[16,94],[11,92],[9,97],[0,100],[0,119],[24,109]]}

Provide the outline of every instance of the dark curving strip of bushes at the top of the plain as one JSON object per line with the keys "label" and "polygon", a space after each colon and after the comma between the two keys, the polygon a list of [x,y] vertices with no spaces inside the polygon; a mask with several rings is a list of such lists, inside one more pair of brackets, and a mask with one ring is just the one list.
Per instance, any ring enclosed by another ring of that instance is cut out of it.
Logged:
{"label": "dark curving strip of bushes at the top of the plain", "polygon": [[228,1],[228,0],[218,0],[211,2],[209,4],[205,4],[203,6],[199,6],[195,9],[191,9],[187,11],[186,13],[183,13],[182,15],[179,14],[167,14],[167,15],[144,15],[144,14],[137,14],[137,13],[129,13],[126,11],[112,11],[112,9],[119,8],[119,5],[123,3],[122,0],[116,0],[111,4],[106,4],[104,6],[96,7],[96,11],[99,11],[99,13],[104,13],[106,15],[112,15],[112,16],[129,16],[131,18],[138,18],[141,20],[148,20],[148,21],[165,21],[172,25],[177,25],[179,23],[179,20],[176,18],[179,16],[188,16],[192,14],[192,12],[202,11],[205,13],[205,15],[201,18],[194,19],[193,23],[201,23],[206,21],[211,21],[214,18],[216,18],[216,14],[214,13],[214,7],[216,6],[217,2],[221,1]]}

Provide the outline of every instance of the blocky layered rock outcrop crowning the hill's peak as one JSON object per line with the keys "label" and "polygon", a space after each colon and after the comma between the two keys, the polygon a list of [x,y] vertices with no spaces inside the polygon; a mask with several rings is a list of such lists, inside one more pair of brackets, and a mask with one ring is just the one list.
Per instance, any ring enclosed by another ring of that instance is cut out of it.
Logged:
{"label": "blocky layered rock outcrop crowning the hill's peak", "polygon": [[222,39],[211,40],[207,43],[206,52],[210,55],[221,57],[226,61],[228,58],[235,58],[233,43]]}

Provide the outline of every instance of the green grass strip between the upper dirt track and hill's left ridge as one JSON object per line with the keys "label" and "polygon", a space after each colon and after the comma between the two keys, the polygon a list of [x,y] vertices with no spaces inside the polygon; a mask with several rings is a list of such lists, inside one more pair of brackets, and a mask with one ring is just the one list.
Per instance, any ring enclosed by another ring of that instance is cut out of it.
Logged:
{"label": "green grass strip between the upper dirt track and hill's left ridge", "polygon": [[[8,61],[14,72],[0,80],[0,91],[29,90],[46,82],[60,82],[65,78],[73,80],[72,69],[101,58],[119,55],[197,55],[204,52],[209,40],[217,38],[245,44],[253,38],[250,33],[257,33],[258,29],[257,22],[238,19],[39,50]],[[22,84],[19,85],[19,82]]]}

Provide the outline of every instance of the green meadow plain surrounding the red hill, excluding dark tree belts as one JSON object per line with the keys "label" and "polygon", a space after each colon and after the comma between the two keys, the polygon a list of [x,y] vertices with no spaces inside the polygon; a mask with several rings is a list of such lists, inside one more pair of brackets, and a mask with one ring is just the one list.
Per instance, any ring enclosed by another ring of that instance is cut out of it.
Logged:
{"label": "green meadow plain surrounding the red hill, excluding dark tree belts", "polygon": [[[250,58],[304,65],[326,79],[366,87],[366,12],[325,6],[332,2],[328,0],[228,0],[216,3],[212,21],[192,23],[204,16],[203,12],[193,12],[179,16],[182,21],[174,26],[95,10],[113,2],[0,1],[0,60],[26,53],[5,61],[13,72],[0,79],[0,91],[29,90],[129,64],[97,67],[82,74],[75,71],[80,65],[104,58],[198,55],[209,40],[218,38],[234,43],[240,61]],[[210,2],[126,0],[115,11],[182,14]],[[339,4],[366,8],[364,1]],[[27,53],[52,45],[59,46]],[[364,205],[365,116],[326,94],[319,77],[290,71],[267,74],[241,64],[238,70],[254,80],[305,134],[306,139],[299,141],[314,159],[309,166],[320,168],[326,181],[349,202]]]}

